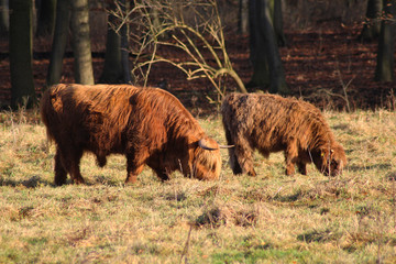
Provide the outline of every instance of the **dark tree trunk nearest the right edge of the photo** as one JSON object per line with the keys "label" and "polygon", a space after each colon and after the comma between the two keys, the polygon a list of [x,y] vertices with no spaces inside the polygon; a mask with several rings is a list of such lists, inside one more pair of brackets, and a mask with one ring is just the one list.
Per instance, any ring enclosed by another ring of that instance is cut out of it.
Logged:
{"label": "dark tree trunk nearest the right edge of the photo", "polygon": [[377,64],[375,80],[392,81],[394,79],[394,53],[395,53],[395,0],[384,0],[385,18],[381,23],[381,34],[377,51]]}

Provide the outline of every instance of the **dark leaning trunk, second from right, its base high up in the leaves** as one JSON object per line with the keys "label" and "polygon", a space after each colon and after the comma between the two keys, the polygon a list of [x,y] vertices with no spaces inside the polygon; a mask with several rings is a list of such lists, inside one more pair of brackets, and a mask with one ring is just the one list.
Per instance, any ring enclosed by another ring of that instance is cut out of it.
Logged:
{"label": "dark leaning trunk, second from right, its base high up in the leaves", "polygon": [[383,0],[369,0],[366,20],[359,36],[360,41],[373,41],[380,36]]}

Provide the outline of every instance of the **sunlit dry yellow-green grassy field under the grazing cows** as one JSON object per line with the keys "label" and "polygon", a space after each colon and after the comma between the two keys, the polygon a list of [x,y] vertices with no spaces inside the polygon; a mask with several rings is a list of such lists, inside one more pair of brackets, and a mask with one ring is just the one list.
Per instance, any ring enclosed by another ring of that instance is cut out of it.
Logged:
{"label": "sunlit dry yellow-green grassy field under the grazing cows", "polygon": [[[0,263],[396,263],[396,113],[326,112],[345,147],[344,174],[284,175],[282,153],[256,154],[257,177],[218,182],[145,169],[125,158],[86,185],[53,185],[54,145],[37,112],[0,113]],[[198,119],[226,144],[219,117]]]}

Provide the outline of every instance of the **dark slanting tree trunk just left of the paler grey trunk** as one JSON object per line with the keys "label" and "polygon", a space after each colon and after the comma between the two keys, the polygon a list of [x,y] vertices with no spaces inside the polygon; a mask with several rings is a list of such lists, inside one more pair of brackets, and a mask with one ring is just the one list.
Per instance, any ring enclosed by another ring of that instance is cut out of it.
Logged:
{"label": "dark slanting tree trunk just left of the paler grey trunk", "polygon": [[70,3],[68,0],[57,0],[56,20],[51,50],[48,73],[46,78],[47,87],[61,81],[63,57],[66,50],[68,30],[70,22]]}

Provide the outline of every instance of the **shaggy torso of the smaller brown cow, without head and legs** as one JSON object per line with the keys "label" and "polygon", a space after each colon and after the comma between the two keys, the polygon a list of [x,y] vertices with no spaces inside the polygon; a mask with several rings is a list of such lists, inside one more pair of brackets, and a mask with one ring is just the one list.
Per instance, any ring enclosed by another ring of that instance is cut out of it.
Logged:
{"label": "shaggy torso of the smaller brown cow, without head and legs", "polygon": [[253,147],[264,152],[280,151],[294,139],[298,139],[304,148],[318,140],[332,141],[320,111],[295,98],[231,94],[223,100],[222,114],[224,125],[235,138],[248,138]]}

